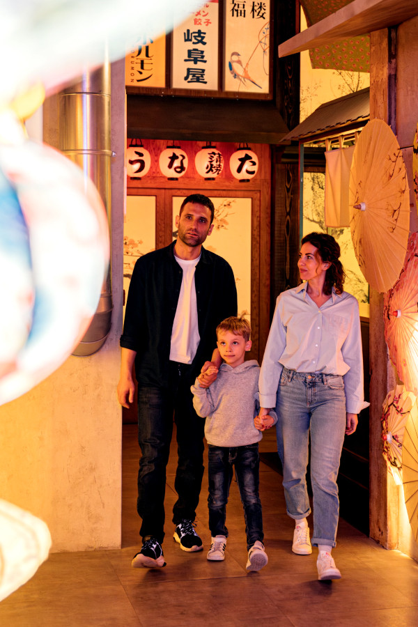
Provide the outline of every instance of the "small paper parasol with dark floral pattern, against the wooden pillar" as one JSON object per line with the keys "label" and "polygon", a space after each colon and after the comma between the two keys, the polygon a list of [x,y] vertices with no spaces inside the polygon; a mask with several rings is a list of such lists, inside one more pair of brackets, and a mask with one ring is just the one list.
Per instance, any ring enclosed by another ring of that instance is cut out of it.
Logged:
{"label": "small paper parasol with dark floral pattern, against the wooden pillar", "polygon": [[415,395],[407,392],[403,385],[396,385],[387,394],[383,403],[382,421],[383,457],[387,461],[398,485],[402,483],[400,470],[402,467],[402,442],[405,424],[412,413],[418,419],[418,408]]}

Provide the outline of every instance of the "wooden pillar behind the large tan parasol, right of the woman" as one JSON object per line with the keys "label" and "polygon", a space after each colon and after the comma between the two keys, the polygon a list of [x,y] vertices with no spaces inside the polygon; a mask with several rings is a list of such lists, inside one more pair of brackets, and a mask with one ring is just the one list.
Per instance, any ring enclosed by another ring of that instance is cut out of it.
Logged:
{"label": "wooden pillar behind the large tan parasol, right of the woman", "polygon": [[[371,33],[370,61],[370,118],[380,118],[396,132],[396,30]],[[382,456],[380,415],[385,396],[396,382],[385,343],[383,295],[372,288],[370,369],[370,536],[392,549],[398,544],[398,496]]]}

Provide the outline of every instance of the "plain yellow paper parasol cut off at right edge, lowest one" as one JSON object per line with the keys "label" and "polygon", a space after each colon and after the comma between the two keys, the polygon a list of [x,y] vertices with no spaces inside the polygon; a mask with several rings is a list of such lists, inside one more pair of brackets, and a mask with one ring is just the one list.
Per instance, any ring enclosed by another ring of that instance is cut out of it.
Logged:
{"label": "plain yellow paper parasol cut off at right edge, lowest one", "polygon": [[403,494],[415,541],[418,541],[418,421],[410,416],[403,434]]}

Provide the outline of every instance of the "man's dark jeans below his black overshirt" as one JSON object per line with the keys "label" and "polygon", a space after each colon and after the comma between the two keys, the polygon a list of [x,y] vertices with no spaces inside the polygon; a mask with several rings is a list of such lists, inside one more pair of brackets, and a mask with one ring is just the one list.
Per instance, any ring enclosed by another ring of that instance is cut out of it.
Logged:
{"label": "man's dark jeans below his black overshirt", "polygon": [[137,509],[142,518],[139,533],[164,539],[164,496],[173,414],[177,426],[178,465],[174,487],[178,500],[173,522],[194,520],[203,477],[204,419],[196,415],[190,392],[190,366],[170,362],[168,389],[138,388],[138,441],[141,459],[138,472]]}

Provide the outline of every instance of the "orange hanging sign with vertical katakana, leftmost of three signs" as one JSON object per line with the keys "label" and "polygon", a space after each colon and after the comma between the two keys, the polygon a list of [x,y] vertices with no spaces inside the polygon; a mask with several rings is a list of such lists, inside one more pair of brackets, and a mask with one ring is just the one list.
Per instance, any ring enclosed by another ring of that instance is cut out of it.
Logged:
{"label": "orange hanging sign with vertical katakana, leftmost of three signs", "polygon": [[127,87],[165,87],[165,35],[139,38],[125,57]]}

